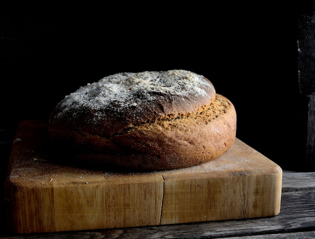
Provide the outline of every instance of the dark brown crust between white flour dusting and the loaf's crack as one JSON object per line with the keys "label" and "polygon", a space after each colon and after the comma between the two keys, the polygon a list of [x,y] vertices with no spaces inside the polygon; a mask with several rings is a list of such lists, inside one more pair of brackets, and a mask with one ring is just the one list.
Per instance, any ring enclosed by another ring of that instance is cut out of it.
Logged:
{"label": "dark brown crust between white flour dusting and the loaf's crack", "polygon": [[[133,99],[138,99],[137,106],[130,105],[123,109],[119,102],[115,101],[100,109],[91,109],[80,102],[74,102],[70,110],[65,111],[62,107],[66,101],[64,99],[53,110],[49,125],[61,132],[71,130],[111,137],[129,125],[165,117],[174,118],[187,112],[195,113],[202,105],[210,104],[215,98],[212,83],[205,77],[203,80],[207,84],[200,84],[198,87],[206,92],[205,96],[191,94],[183,97],[154,91],[137,91],[131,96]],[[148,95],[153,100],[147,100]],[[101,117],[97,119],[96,115]]]}

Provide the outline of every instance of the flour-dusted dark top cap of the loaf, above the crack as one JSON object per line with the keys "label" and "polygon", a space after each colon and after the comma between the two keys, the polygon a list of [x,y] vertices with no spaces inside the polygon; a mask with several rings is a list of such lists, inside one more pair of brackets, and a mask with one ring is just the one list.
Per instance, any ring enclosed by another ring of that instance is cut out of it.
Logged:
{"label": "flour-dusted dark top cap of the loaf, above the crack", "polygon": [[191,71],[116,73],[66,96],[50,123],[110,137],[132,124],[193,114],[214,98],[212,83]]}

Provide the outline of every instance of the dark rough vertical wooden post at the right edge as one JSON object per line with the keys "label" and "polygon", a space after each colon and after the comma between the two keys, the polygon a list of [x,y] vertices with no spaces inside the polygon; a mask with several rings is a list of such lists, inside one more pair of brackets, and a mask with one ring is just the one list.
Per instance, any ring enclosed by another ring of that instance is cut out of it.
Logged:
{"label": "dark rough vertical wooden post at the right edge", "polygon": [[[307,108],[303,169],[315,171],[315,11],[314,0],[304,1],[298,9],[297,55],[298,83],[303,107]],[[304,128],[302,127],[304,130]]]}

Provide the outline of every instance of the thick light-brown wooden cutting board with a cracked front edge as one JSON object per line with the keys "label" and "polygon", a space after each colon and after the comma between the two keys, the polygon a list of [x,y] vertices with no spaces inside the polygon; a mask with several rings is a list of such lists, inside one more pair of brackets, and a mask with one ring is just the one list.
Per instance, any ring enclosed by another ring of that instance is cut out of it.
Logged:
{"label": "thick light-brown wooden cutting board with a cracked front edge", "polygon": [[5,198],[17,233],[87,230],[275,216],[281,168],[238,138],[216,160],[186,169],[114,173],[50,162],[47,125],[16,131]]}

